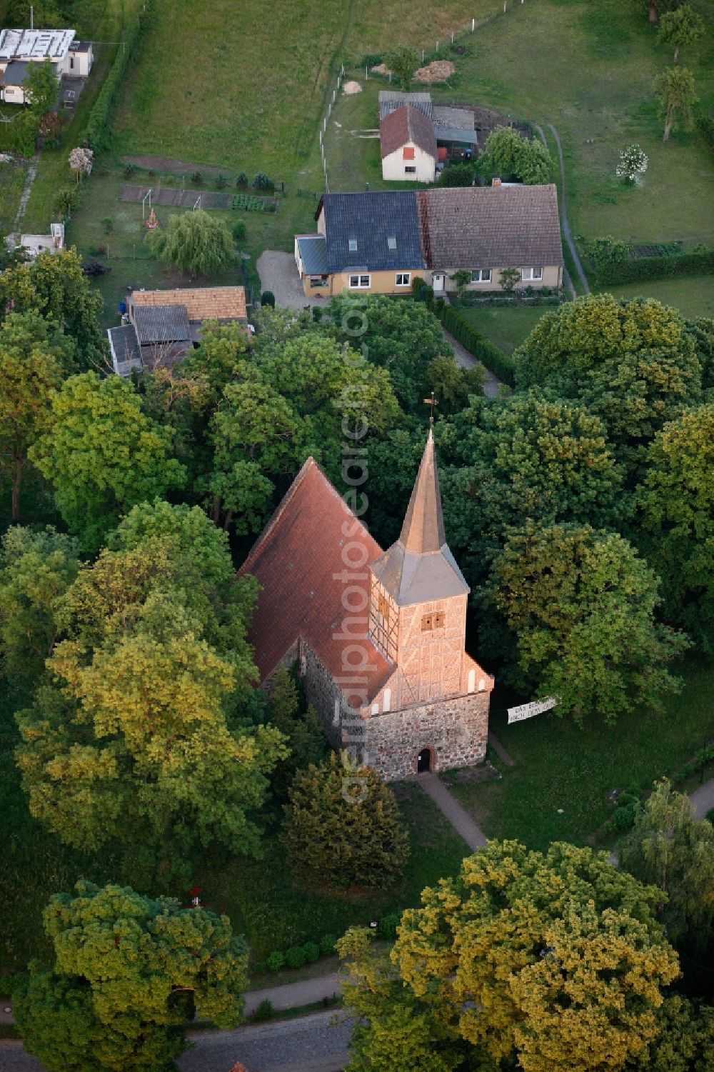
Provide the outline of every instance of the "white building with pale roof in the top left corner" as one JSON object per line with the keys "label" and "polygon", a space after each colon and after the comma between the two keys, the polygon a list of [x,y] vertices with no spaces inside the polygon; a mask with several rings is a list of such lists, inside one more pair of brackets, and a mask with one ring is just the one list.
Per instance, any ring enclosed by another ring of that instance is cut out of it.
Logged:
{"label": "white building with pale roof in the top left corner", "polygon": [[74,30],[1,30],[0,100],[25,104],[30,63],[49,60],[60,78],[87,78],[94,62],[91,41],[76,41]]}

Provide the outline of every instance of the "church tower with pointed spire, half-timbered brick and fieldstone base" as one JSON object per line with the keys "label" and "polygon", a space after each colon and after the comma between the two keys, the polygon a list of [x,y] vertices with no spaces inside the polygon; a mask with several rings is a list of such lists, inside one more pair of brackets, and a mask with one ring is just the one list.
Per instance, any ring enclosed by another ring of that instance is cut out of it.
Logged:
{"label": "church tower with pointed spire, half-timbered brick and fieldstone base", "polygon": [[446,542],[431,428],[399,539],[369,569],[370,640],[395,673],[371,708],[367,761],[396,777],[427,751],[431,769],[480,761],[493,678],[465,651],[470,589]]}

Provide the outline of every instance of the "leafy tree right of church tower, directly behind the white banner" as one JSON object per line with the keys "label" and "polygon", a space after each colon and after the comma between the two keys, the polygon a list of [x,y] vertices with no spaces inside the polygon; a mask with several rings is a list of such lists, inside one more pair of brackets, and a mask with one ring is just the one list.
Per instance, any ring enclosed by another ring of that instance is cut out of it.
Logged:
{"label": "leafy tree right of church tower, directly behind the white banner", "polygon": [[657,579],[615,533],[529,522],[495,560],[487,600],[516,638],[514,680],[557,697],[562,716],[613,723],[679,687],[666,667],[685,638],[655,622]]}

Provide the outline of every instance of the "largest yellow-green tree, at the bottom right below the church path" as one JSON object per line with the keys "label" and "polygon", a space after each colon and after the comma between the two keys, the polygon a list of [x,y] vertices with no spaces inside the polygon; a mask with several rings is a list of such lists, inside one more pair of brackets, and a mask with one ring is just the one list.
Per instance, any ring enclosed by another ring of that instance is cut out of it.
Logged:
{"label": "largest yellow-green tree, at the bottom right below the church path", "polygon": [[524,1072],[624,1069],[656,1037],[663,987],[679,974],[658,896],[603,852],[490,843],[403,913],[391,971],[363,932],[340,943],[345,1001],[365,1018],[351,1072],[401,1068],[371,1062],[396,1007],[433,1040],[436,1068],[460,1056]]}

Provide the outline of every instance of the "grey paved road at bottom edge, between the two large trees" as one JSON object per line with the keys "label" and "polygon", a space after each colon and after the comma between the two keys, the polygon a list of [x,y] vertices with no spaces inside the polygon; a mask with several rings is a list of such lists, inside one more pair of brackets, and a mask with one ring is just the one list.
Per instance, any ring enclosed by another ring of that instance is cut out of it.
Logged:
{"label": "grey paved road at bottom edge, between the two large trees", "polygon": [[195,1049],[183,1055],[179,1068],[228,1072],[241,1061],[247,1072],[341,1072],[351,1038],[352,1021],[330,1011],[235,1031],[200,1031],[192,1036]]}

